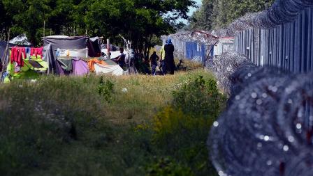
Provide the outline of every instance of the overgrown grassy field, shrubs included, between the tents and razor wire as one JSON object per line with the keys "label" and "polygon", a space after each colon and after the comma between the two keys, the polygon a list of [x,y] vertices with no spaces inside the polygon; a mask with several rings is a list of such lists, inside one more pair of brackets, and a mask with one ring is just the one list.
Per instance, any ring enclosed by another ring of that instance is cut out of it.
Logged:
{"label": "overgrown grassy field, shrubs included, between the tents and razor wire", "polygon": [[1,85],[0,175],[216,175],[205,142],[225,98],[212,83],[196,69]]}

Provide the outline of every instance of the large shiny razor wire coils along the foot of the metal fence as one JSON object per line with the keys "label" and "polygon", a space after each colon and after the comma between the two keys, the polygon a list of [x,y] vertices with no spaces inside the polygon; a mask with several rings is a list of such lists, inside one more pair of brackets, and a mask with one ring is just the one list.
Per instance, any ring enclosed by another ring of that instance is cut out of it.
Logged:
{"label": "large shiny razor wire coils along the foot of the metal fence", "polygon": [[219,175],[312,175],[313,74],[257,67],[235,51],[209,62],[231,95],[208,138]]}

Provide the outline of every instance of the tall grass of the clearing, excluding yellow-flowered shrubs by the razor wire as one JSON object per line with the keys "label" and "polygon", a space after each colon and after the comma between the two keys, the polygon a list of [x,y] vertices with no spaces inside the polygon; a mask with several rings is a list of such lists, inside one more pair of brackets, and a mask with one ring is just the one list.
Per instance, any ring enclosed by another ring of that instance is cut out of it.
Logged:
{"label": "tall grass of the clearing, excluding yellow-flowered shrubs by the razor wire", "polygon": [[212,79],[195,70],[105,76],[102,83],[89,75],[0,85],[0,175],[151,175],[163,158],[178,173],[194,172],[184,157],[153,141],[153,125],[173,103],[173,92],[199,76]]}

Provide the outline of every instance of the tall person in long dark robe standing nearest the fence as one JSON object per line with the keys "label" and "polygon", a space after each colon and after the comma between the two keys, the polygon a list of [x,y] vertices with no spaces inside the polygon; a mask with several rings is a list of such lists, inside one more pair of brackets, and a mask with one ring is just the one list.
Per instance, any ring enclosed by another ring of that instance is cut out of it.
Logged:
{"label": "tall person in long dark robe standing nearest the fence", "polygon": [[174,61],[174,51],[175,47],[172,44],[172,40],[168,38],[166,41],[166,45],[164,46],[164,51],[165,51],[165,63],[166,63],[166,68],[170,74],[174,74],[175,70],[175,61]]}

